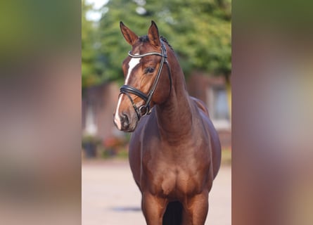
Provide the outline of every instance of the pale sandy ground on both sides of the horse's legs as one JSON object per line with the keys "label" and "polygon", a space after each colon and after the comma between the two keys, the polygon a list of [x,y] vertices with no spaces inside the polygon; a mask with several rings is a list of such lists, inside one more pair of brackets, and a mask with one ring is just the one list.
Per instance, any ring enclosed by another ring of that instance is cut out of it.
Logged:
{"label": "pale sandy ground on both sides of the horse's legs", "polygon": [[[127,161],[82,163],[83,225],[144,225],[141,194]],[[231,167],[224,166],[210,192],[205,225],[231,224]]]}

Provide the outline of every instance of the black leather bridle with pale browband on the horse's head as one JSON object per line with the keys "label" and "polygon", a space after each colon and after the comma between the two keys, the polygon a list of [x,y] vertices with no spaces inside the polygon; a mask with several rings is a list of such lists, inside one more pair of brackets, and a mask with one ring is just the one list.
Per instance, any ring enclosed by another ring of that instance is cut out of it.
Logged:
{"label": "black leather bridle with pale browband on the horse's head", "polygon": [[[151,113],[151,108],[150,108],[150,103],[151,103],[151,99],[152,96],[154,94],[154,91],[158,85],[159,79],[160,79],[160,75],[162,72],[162,68],[163,68],[163,64],[166,63],[167,65],[167,70],[168,70],[168,76],[170,79],[170,92],[172,90],[172,76],[171,76],[171,71],[170,71],[170,66],[167,62],[167,53],[166,53],[166,49],[165,46],[161,40],[161,53],[159,52],[149,52],[149,53],[144,53],[141,55],[133,55],[131,53],[131,51],[128,52],[128,55],[132,58],[142,58],[144,56],[161,56],[161,62],[160,62],[160,66],[158,68],[158,74],[155,77],[155,80],[151,86],[150,91],[148,92],[148,94],[144,94],[142,91],[140,91],[139,89],[134,88],[133,86],[130,85],[123,85],[120,88],[120,94],[125,94],[129,100],[132,102],[132,106],[134,107],[134,110],[137,114],[138,120],[140,120],[140,118],[144,115],[149,115]],[[139,108],[136,106],[136,104],[134,103],[134,100],[132,99],[132,97],[129,94],[134,94],[136,96],[138,96],[139,98],[143,99],[143,101],[145,101],[144,105],[141,105]]]}

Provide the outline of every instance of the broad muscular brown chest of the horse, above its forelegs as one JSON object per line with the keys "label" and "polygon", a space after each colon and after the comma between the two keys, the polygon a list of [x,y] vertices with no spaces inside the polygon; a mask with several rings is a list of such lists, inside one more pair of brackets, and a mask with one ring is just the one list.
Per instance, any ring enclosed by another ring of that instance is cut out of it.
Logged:
{"label": "broad muscular brown chest of the horse, above its forelegs", "polygon": [[210,170],[209,146],[205,138],[187,140],[172,147],[161,143],[158,132],[145,134],[155,139],[143,139],[141,144],[141,185],[153,195],[184,198],[199,193],[206,186]]}

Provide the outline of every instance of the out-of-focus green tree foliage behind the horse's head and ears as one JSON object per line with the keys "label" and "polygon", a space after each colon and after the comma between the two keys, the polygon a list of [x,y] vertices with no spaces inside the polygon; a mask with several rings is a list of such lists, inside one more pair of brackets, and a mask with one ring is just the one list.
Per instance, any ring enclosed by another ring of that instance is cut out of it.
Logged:
{"label": "out-of-focus green tree foliage behind the horse's head and ears", "polygon": [[[87,54],[83,59],[90,56],[90,62],[93,60],[89,70],[98,74],[95,84],[123,79],[121,65],[131,46],[122,37],[120,21],[141,36],[147,34],[154,20],[160,35],[173,46],[186,75],[193,70],[213,75],[231,72],[231,0],[111,0],[102,11],[97,29],[100,48],[91,57],[82,46],[83,55]],[[99,63],[101,66],[97,66]]]}

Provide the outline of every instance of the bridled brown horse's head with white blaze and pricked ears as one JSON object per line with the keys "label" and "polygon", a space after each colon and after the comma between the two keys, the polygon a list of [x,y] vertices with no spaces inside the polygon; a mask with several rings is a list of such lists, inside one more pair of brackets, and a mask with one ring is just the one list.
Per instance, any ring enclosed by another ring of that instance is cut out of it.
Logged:
{"label": "bridled brown horse's head with white blaze and pricked ears", "polygon": [[120,30],[132,51],[122,63],[124,85],[113,117],[117,129],[131,132],[143,115],[151,113],[153,105],[166,101],[172,80],[167,49],[153,21],[146,36],[137,36],[122,22]]}

